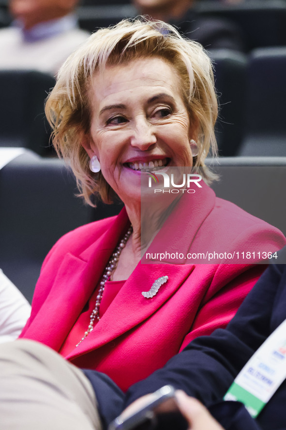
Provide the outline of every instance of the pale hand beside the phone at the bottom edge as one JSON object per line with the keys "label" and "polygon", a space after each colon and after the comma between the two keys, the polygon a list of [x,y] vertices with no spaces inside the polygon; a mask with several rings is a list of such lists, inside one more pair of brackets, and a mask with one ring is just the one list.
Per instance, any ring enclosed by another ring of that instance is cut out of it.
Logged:
{"label": "pale hand beside the phone at the bottom edge", "polygon": [[176,391],[179,409],[189,423],[188,430],[224,430],[196,398]]}

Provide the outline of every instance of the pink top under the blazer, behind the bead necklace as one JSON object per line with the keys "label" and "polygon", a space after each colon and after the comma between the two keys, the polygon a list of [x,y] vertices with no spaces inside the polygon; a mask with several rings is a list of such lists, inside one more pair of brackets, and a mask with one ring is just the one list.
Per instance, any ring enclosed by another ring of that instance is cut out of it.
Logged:
{"label": "pink top under the blazer, behind the bead necklace", "polygon": [[[105,314],[108,306],[112,303],[114,298],[117,296],[120,288],[123,287],[125,281],[106,281],[105,282],[105,290],[102,296],[102,300],[99,308],[99,316],[102,318],[102,315]],[[72,327],[72,330],[69,332],[67,338],[65,339],[62,347],[60,348],[60,355],[65,357],[71,351],[75,349],[75,345],[80,341],[83,337],[84,332],[87,330],[90,324],[90,314],[94,309],[96,296],[98,295],[99,285],[94,290],[93,294],[90,297],[90,300],[86,303],[85,307],[82,310],[82,313],[76,320],[75,325]],[[97,321],[94,321],[94,325]]]}

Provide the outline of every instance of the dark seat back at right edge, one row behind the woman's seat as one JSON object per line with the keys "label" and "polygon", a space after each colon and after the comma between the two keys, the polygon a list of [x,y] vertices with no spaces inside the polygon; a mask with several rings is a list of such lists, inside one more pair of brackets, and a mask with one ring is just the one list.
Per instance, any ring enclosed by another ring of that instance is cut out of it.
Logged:
{"label": "dark seat back at right edge, one row behind the woman's seat", "polygon": [[286,47],[252,52],[239,155],[286,156]]}

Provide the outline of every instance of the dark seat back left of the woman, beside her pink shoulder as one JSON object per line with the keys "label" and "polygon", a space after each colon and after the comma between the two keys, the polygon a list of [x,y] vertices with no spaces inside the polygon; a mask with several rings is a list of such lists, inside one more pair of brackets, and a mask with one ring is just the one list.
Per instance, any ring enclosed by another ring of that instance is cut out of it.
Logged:
{"label": "dark seat back left of the woman, beside her pink shoulder", "polygon": [[74,176],[58,159],[25,150],[0,169],[0,268],[29,301],[60,236],[120,211],[119,205],[94,209],[76,193]]}

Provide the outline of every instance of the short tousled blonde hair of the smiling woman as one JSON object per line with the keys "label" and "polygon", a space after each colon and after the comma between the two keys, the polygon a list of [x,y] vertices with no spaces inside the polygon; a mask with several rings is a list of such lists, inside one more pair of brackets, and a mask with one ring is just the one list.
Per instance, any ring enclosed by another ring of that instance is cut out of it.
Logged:
{"label": "short tousled blonde hair of the smiling woman", "polygon": [[[101,172],[90,171],[89,156],[81,145],[90,133],[91,77],[96,71],[104,71],[106,66],[154,56],[168,61],[180,78],[191,124],[198,127],[195,165],[205,165],[210,148],[216,153],[217,99],[211,60],[202,46],[185,39],[169,24],[143,17],[98,30],[61,66],[45,105],[55,149],[71,165],[81,196],[91,205],[91,196],[96,193],[106,203],[116,196]],[[203,170],[207,172],[206,168]]]}

